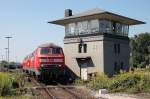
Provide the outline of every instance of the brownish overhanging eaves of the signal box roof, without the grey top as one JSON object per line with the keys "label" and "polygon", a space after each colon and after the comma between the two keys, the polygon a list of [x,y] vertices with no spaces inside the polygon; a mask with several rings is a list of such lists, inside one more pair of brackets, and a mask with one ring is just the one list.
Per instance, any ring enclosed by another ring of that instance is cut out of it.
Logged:
{"label": "brownish overhanging eaves of the signal box roof, without the grey top", "polygon": [[55,20],[55,21],[49,21],[48,23],[65,26],[68,23],[80,22],[80,21],[90,20],[90,19],[111,20],[111,21],[120,22],[126,25],[145,24],[145,22],[135,20],[132,18],[128,18],[125,16],[121,16],[118,14],[114,14],[111,12],[102,12],[102,13],[96,13],[96,14],[86,15],[86,16],[70,16],[70,17],[65,17],[59,20]]}

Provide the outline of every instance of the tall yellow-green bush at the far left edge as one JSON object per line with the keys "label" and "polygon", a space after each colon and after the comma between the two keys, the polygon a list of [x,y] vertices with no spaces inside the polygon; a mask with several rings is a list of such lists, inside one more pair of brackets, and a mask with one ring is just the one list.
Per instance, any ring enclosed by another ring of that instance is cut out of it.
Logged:
{"label": "tall yellow-green bush at the far left edge", "polygon": [[0,96],[10,94],[12,88],[12,80],[8,73],[0,72]]}

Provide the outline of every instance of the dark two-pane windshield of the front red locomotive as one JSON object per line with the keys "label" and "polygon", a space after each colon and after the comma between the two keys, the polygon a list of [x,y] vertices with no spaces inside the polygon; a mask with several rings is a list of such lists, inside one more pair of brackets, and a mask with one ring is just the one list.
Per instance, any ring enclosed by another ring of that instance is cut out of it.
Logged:
{"label": "dark two-pane windshield of the front red locomotive", "polygon": [[41,54],[62,54],[61,48],[41,48]]}

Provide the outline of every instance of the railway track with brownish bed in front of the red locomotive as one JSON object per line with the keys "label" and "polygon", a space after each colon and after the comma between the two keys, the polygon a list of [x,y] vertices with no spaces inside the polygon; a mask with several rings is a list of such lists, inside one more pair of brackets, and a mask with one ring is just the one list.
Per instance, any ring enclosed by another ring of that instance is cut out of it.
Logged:
{"label": "railway track with brownish bed in front of the red locomotive", "polygon": [[46,86],[37,82],[33,77],[30,77],[30,79],[37,93],[35,99],[95,99],[88,93],[77,90],[74,86],[64,86],[56,81],[54,81],[55,86]]}

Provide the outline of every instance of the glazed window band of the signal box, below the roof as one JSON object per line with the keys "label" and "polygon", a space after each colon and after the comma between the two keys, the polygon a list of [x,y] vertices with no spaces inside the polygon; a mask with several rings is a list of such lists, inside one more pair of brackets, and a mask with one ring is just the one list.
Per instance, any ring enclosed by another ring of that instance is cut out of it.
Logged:
{"label": "glazed window band of the signal box, below the roof", "polygon": [[65,36],[80,36],[88,34],[114,34],[120,36],[128,36],[129,25],[110,20],[86,20],[66,24]]}

